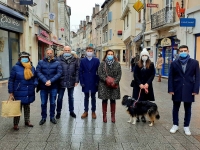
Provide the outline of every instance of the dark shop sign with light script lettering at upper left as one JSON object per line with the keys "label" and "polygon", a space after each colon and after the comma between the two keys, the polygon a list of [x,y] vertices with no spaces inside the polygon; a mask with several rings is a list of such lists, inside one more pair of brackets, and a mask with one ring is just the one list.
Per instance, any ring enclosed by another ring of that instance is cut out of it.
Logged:
{"label": "dark shop sign with light script lettering at upper left", "polygon": [[0,13],[0,27],[11,31],[23,33],[22,21],[3,13]]}

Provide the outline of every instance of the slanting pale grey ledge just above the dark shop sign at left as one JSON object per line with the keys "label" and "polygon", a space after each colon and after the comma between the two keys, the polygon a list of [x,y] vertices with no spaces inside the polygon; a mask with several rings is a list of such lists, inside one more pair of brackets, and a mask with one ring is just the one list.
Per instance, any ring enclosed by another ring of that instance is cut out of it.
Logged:
{"label": "slanting pale grey ledge just above the dark shop sign at left", "polygon": [[14,17],[16,17],[20,20],[26,20],[26,18],[22,14],[20,14],[19,12],[14,11],[13,9],[6,7],[4,5],[1,5],[1,4],[0,4],[0,11],[6,12],[7,14],[14,16]]}

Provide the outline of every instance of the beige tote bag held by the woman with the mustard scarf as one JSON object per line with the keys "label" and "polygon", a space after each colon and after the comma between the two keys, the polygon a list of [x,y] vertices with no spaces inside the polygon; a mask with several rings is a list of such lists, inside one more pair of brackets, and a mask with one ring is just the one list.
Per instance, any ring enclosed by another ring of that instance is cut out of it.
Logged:
{"label": "beige tote bag held by the woman with the mustard scarf", "polygon": [[2,101],[1,116],[5,118],[21,116],[21,101],[12,100],[11,97],[7,101]]}

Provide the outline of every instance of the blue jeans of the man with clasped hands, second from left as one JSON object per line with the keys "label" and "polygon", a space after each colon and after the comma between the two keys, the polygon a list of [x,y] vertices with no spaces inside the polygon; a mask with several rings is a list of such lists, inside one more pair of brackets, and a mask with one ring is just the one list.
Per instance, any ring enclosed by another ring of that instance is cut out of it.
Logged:
{"label": "blue jeans of the man with clasped hands, second from left", "polygon": [[50,101],[50,119],[54,118],[55,108],[56,108],[56,103],[55,103],[56,95],[57,95],[57,89],[41,90],[40,91],[42,119],[46,119],[47,118],[48,96],[50,96],[49,97],[49,101]]}

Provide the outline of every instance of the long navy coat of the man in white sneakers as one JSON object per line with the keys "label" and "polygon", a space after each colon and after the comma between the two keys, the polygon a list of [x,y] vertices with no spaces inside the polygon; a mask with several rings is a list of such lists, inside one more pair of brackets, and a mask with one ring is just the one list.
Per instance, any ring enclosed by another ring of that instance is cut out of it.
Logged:
{"label": "long navy coat of the man in white sneakers", "polygon": [[192,93],[199,93],[199,62],[189,59],[185,73],[179,60],[171,63],[168,92],[174,92],[173,101],[194,102]]}

